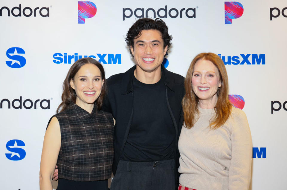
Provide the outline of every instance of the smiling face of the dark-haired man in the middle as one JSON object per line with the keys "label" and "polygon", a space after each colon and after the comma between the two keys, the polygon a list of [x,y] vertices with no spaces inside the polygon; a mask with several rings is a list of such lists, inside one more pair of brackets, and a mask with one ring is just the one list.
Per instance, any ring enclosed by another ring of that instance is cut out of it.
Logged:
{"label": "smiling face of the dark-haired man in the middle", "polygon": [[134,47],[131,47],[132,55],[137,64],[137,70],[153,72],[160,70],[160,65],[167,53],[167,46],[161,38],[158,30],[142,30],[142,34],[134,39]]}

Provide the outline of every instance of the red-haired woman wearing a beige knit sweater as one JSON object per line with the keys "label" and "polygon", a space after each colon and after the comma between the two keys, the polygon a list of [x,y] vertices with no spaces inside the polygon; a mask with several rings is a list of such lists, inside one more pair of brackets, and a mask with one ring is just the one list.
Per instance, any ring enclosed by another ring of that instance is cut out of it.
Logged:
{"label": "red-haired woman wearing a beige knit sweater", "polygon": [[251,133],[245,113],[229,102],[222,59],[214,53],[198,54],[184,86],[178,189],[248,189]]}

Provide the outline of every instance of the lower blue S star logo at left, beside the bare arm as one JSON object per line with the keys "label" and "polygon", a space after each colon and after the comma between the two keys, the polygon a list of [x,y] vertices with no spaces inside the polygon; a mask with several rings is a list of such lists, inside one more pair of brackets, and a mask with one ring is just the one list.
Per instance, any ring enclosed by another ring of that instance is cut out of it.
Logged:
{"label": "lower blue S star logo at left, beside the bare arm", "polygon": [[22,160],[26,156],[26,152],[23,149],[23,146],[25,146],[25,143],[22,140],[9,140],[6,143],[6,148],[8,151],[12,153],[6,153],[6,158],[9,160]]}

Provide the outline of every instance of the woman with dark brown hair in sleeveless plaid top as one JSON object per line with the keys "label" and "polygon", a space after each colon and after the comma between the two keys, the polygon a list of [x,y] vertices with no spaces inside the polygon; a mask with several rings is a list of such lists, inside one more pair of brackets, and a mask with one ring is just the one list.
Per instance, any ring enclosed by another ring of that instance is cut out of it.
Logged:
{"label": "woman with dark brown hair in sleeveless plaid top", "polygon": [[114,122],[101,109],[106,94],[105,71],[92,58],[77,60],[63,83],[62,103],[46,129],[40,189],[108,189],[112,174]]}

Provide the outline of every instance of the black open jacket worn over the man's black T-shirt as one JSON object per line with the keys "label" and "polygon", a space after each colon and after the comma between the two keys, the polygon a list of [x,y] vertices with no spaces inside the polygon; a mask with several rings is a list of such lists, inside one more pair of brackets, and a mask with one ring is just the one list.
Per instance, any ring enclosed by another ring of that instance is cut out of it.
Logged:
{"label": "black open jacket worn over the man's black T-shirt", "polygon": [[[134,111],[133,99],[133,74],[136,65],[130,68],[125,73],[119,73],[109,77],[107,81],[107,96],[104,100],[102,109],[112,113],[116,120],[115,133],[114,133],[114,161],[112,170],[116,174],[117,164],[120,160],[123,148],[125,147],[126,140],[132,123]],[[161,65],[161,72],[164,76],[164,84],[166,87],[167,107],[172,118],[175,128],[175,144],[174,144],[174,157],[175,157],[175,187],[178,187],[179,173],[179,152],[177,148],[178,137],[183,124],[183,111],[181,107],[181,100],[185,94],[184,91],[184,77],[170,71]]]}

